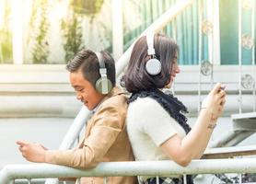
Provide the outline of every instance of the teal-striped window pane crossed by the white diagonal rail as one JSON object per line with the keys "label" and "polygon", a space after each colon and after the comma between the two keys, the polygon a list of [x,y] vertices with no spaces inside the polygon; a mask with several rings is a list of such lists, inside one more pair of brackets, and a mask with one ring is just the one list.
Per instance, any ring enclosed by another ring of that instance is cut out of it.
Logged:
{"label": "teal-striped window pane crossed by the white diagonal rail", "polygon": [[[126,50],[157,17],[160,17],[178,0],[139,0],[123,1],[123,42]],[[129,6],[129,8],[126,8]],[[198,63],[198,2],[188,7],[177,18],[177,42],[180,46],[180,64]],[[173,22],[170,22],[163,33],[173,37]],[[207,57],[207,38],[204,38],[204,56]]]}

